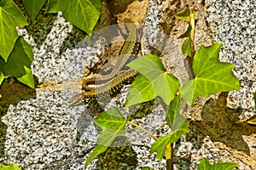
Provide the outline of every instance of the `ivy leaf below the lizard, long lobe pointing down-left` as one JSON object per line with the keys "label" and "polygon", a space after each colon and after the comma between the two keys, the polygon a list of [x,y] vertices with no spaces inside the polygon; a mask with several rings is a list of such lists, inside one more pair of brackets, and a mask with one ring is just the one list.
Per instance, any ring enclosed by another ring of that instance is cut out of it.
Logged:
{"label": "ivy leaf below the lizard, long lobe pointing down-left", "polygon": [[103,111],[100,116],[95,120],[99,127],[102,127],[102,133],[100,134],[96,148],[90,153],[90,156],[85,162],[87,167],[96,156],[102,154],[108,149],[108,146],[112,144],[113,139],[118,136],[125,136],[125,123],[126,120],[121,116],[118,109],[111,109]]}

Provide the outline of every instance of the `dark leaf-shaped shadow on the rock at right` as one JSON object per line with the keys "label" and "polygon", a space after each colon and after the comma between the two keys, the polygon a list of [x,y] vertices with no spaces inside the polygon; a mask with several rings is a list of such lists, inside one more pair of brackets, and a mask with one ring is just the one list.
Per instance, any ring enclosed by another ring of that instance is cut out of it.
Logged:
{"label": "dark leaf-shaped shadow on the rock at right", "polygon": [[222,142],[232,149],[250,156],[247,143],[242,138],[256,133],[256,127],[240,122],[240,111],[227,107],[228,93],[219,94],[218,99],[209,99],[203,107],[201,122],[190,122],[198,131],[214,142]]}

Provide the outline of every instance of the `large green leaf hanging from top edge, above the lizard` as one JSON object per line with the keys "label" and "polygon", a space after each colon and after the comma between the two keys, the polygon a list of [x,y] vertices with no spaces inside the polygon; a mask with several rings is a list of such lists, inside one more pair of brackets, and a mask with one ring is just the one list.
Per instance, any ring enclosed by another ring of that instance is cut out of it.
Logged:
{"label": "large green leaf hanging from top edge, above the lizard", "polygon": [[49,0],[49,13],[62,11],[74,26],[91,34],[101,14],[101,0]]}

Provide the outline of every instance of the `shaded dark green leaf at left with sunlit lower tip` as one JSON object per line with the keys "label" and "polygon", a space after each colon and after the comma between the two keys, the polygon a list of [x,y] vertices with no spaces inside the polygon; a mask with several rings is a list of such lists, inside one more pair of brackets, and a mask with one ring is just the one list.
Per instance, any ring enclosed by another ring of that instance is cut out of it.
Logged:
{"label": "shaded dark green leaf at left with sunlit lower tip", "polygon": [[5,63],[0,59],[0,71],[4,76],[15,76],[20,82],[30,88],[34,88],[31,63],[33,60],[32,48],[20,37],[15,43],[15,48],[9,56],[8,62]]}

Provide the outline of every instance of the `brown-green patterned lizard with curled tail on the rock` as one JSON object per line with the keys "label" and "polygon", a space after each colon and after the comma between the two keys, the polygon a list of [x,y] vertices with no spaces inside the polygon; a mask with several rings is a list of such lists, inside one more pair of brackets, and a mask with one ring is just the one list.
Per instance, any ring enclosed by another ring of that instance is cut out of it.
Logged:
{"label": "brown-green patterned lizard with curled tail on the rock", "polygon": [[137,75],[137,71],[123,70],[125,63],[131,56],[135,43],[137,42],[137,27],[135,24],[128,23],[125,24],[125,26],[129,31],[128,37],[121,48],[114,69],[107,75],[97,74],[92,77],[84,77],[84,80],[82,81],[82,89],[84,92],[75,95],[73,99],[71,99],[69,105],[80,105],[84,100],[90,99],[92,96],[96,96],[98,94],[104,94],[118,86],[120,83]]}

